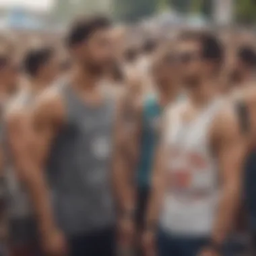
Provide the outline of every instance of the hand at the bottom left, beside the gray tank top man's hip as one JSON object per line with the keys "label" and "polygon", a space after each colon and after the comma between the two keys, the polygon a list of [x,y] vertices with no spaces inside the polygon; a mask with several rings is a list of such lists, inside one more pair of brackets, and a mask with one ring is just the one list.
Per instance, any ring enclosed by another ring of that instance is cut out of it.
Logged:
{"label": "hand at the bottom left, beside the gray tank top man's hip", "polygon": [[42,249],[46,256],[68,255],[67,241],[64,234],[57,229],[45,232],[42,236]]}

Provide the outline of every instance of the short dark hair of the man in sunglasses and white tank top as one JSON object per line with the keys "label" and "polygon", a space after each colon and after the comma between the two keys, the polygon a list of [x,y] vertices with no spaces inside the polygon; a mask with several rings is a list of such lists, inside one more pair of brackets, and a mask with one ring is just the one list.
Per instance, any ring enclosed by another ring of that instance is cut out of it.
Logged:
{"label": "short dark hair of the man in sunglasses and white tank top", "polygon": [[224,47],[220,40],[210,32],[185,32],[181,40],[195,40],[201,44],[201,57],[221,65],[224,61]]}

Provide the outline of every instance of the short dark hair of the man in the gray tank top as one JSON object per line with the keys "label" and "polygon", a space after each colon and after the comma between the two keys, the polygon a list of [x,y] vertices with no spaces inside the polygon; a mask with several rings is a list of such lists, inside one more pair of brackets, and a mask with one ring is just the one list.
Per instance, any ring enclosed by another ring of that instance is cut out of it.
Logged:
{"label": "short dark hair of the man in the gray tank top", "polygon": [[96,30],[108,28],[111,22],[104,16],[96,16],[92,18],[80,18],[71,24],[71,28],[67,33],[67,46],[72,47],[76,44],[88,40],[92,33]]}

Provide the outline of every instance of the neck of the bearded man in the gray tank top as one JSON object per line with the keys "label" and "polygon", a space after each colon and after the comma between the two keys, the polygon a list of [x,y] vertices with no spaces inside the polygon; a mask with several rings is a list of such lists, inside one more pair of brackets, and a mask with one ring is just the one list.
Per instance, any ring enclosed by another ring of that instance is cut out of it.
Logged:
{"label": "neck of the bearded man in the gray tank top", "polygon": [[88,69],[82,67],[75,67],[72,75],[73,86],[80,90],[93,90],[96,88],[98,77],[90,72]]}

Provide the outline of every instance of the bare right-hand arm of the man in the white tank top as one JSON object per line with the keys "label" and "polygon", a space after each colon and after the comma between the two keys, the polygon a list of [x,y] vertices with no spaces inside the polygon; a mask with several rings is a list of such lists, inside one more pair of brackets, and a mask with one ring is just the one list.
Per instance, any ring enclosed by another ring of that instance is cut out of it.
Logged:
{"label": "bare right-hand arm of the man in the white tank top", "polygon": [[212,239],[214,243],[222,244],[234,224],[234,216],[239,205],[241,174],[247,148],[238,118],[232,110],[224,111],[216,119],[214,132],[220,168],[221,193]]}

